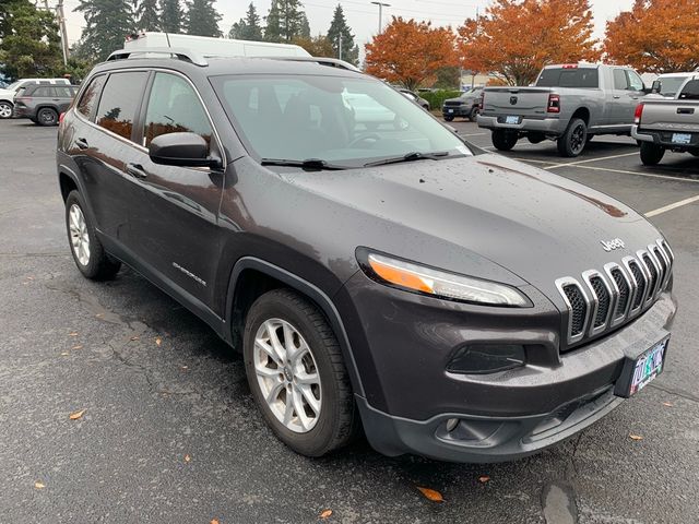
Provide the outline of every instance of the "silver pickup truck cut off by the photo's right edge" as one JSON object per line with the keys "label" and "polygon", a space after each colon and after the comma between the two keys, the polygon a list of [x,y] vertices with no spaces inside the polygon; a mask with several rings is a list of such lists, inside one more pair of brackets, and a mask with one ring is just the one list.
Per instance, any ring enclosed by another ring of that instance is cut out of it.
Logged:
{"label": "silver pickup truck cut off by the photo's right edge", "polygon": [[699,156],[699,74],[689,78],[675,99],[647,98],[636,108],[631,136],[641,144],[641,162],[654,166],[665,151]]}

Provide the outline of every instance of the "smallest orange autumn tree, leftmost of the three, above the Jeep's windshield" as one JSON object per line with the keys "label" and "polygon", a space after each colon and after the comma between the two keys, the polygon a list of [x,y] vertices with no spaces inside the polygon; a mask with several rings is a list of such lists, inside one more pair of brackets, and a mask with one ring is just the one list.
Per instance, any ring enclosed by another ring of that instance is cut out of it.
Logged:
{"label": "smallest orange autumn tree, leftmost of the three, above the Jeep's windshield", "polygon": [[434,79],[438,69],[459,64],[454,38],[449,27],[393,16],[383,33],[365,46],[367,73],[415,90]]}

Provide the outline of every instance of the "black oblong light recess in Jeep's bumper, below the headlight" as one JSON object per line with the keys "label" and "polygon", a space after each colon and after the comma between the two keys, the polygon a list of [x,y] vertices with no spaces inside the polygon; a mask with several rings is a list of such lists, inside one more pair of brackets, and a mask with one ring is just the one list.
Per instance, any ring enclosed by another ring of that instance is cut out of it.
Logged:
{"label": "black oblong light recess in Jeep's bumper, below the headlight", "polygon": [[526,362],[524,346],[472,344],[459,348],[447,365],[452,373],[484,374],[519,368]]}

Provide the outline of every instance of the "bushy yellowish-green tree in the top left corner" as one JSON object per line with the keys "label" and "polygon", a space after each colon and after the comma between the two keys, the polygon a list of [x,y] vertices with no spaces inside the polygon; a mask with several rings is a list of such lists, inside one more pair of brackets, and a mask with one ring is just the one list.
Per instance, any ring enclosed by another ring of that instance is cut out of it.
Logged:
{"label": "bushy yellowish-green tree in the top left corner", "polygon": [[62,73],[60,36],[54,14],[29,0],[0,5],[0,71],[11,79]]}

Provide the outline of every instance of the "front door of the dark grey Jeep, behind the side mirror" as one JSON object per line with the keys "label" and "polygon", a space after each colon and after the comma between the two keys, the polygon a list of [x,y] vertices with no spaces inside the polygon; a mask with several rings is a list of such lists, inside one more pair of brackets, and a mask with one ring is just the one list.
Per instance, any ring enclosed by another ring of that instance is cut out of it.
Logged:
{"label": "front door of the dark grey Jeep, behind the side mirror", "polygon": [[[213,124],[188,79],[156,72],[144,104],[139,130],[144,147],[162,134],[193,132],[221,157]],[[133,164],[142,172],[134,202],[137,253],[166,279],[211,308],[224,172],[154,164],[145,148],[139,151]]]}

